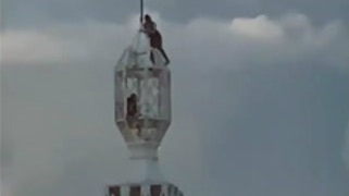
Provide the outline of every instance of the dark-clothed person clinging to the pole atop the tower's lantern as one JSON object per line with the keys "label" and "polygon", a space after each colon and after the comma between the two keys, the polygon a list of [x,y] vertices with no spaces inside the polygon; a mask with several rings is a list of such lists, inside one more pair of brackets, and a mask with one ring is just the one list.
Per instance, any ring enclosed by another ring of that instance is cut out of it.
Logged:
{"label": "dark-clothed person clinging to the pole atop the tower's lantern", "polygon": [[[149,39],[150,39],[150,46],[152,48],[157,48],[162,56],[165,59],[165,65],[170,64],[170,59],[162,48],[162,36],[160,32],[157,29],[157,24],[151,20],[150,15],[146,14],[145,15],[145,23],[142,24],[142,32],[145,32]],[[150,54],[151,61],[154,63],[153,54]]]}

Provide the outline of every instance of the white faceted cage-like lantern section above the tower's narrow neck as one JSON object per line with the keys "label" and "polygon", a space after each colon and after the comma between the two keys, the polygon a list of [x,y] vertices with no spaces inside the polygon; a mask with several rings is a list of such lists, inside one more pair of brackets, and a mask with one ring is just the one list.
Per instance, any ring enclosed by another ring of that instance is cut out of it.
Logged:
{"label": "white faceted cage-like lantern section above the tower's narrow neck", "polygon": [[171,73],[138,32],[114,71],[115,123],[125,142],[159,146],[171,123]]}

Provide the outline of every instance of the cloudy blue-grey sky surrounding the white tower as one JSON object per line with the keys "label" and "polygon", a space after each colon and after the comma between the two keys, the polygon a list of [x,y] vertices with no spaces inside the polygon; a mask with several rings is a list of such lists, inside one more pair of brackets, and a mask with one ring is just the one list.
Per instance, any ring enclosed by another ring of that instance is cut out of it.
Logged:
{"label": "cloudy blue-grey sky surrounding the white tower", "polygon": [[[113,69],[136,0],[2,0],[1,194],[122,181]],[[165,176],[189,196],[349,195],[349,2],[147,0],[171,58]]]}

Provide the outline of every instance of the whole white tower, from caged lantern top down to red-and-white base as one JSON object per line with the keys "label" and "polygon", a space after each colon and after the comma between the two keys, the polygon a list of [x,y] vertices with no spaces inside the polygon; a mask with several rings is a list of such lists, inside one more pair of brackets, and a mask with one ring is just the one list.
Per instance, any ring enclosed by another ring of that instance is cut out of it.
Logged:
{"label": "whole white tower, from caged lantern top down to red-and-white base", "polygon": [[171,72],[146,34],[138,32],[114,72],[115,123],[132,167],[128,179],[108,186],[109,196],[183,196],[158,167],[158,148],[171,124]]}

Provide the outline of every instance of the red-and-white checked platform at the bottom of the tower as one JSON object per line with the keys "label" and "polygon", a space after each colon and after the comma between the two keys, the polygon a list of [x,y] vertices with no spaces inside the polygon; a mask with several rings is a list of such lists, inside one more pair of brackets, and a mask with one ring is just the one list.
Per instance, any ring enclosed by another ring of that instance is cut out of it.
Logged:
{"label": "red-and-white checked platform at the bottom of the tower", "polygon": [[107,196],[184,196],[173,184],[120,184],[108,186]]}

